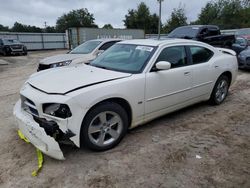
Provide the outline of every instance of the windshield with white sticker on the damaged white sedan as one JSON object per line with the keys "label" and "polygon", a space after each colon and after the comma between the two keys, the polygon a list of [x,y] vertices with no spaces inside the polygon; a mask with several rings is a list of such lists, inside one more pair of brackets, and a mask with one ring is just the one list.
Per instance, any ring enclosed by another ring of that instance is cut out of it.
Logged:
{"label": "windshield with white sticker on the damaged white sedan", "polygon": [[153,55],[155,47],[115,44],[91,62],[92,66],[127,73],[140,73]]}

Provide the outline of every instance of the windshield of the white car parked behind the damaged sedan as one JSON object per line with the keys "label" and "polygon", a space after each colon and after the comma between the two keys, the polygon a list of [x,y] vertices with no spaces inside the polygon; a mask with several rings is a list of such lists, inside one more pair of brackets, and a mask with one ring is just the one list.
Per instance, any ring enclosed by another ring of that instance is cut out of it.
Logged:
{"label": "windshield of the white car parked behind the damaged sedan", "polygon": [[75,49],[73,49],[70,54],[89,54],[91,53],[99,44],[101,44],[101,41],[87,41],[83,44],[77,46]]}

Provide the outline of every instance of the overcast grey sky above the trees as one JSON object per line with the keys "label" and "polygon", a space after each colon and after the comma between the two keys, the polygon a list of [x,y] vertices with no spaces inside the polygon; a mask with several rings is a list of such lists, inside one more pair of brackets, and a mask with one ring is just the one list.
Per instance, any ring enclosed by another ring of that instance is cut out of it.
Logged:
{"label": "overcast grey sky above the trees", "polygon": [[[188,21],[197,18],[201,8],[209,0],[164,0],[162,22],[165,23],[172,10],[181,4],[185,6]],[[94,14],[95,23],[102,27],[110,23],[123,28],[123,19],[128,9],[136,9],[142,0],[0,0],[0,24],[12,27],[14,22],[44,27],[54,26],[56,19],[72,9],[87,8]],[[144,0],[151,13],[158,14],[157,0]]]}

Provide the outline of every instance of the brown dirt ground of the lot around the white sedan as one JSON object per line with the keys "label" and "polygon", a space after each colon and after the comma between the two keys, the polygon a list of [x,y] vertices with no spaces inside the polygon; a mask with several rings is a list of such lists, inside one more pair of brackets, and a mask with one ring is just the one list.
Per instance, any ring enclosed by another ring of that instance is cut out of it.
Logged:
{"label": "brown dirt ground of the lot around the white sedan", "polygon": [[[45,156],[17,136],[12,110],[38,60],[65,51],[0,57],[0,187],[250,187],[250,72],[240,71],[225,103],[194,105],[130,131],[102,153],[63,147]],[[201,158],[196,158],[199,155]]]}

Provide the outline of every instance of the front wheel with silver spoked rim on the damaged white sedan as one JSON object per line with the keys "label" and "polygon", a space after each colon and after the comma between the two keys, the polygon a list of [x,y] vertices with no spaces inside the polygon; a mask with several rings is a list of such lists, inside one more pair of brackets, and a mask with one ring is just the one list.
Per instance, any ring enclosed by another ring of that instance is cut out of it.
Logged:
{"label": "front wheel with silver spoked rim on the damaged white sedan", "polygon": [[[104,121],[101,121],[100,118],[103,114],[105,114],[104,116],[106,117],[105,118],[107,122],[106,125],[105,123],[103,123]],[[111,122],[111,119],[113,117],[115,119],[119,119],[119,121],[117,124],[114,123],[113,125],[111,125],[111,123],[109,122]],[[94,128],[97,129],[97,131],[91,133],[93,127],[98,127],[98,128]],[[110,129],[108,130],[108,128]],[[80,134],[81,147],[85,146],[95,151],[104,151],[111,149],[115,147],[117,144],[119,144],[119,142],[127,133],[127,130],[128,130],[128,115],[126,111],[119,104],[114,102],[100,103],[99,105],[94,107],[90,112],[88,112],[83,120],[81,126],[81,134]],[[115,135],[116,138],[113,138],[110,134],[111,132],[109,133],[108,131],[112,131],[112,133],[114,133],[113,131],[116,131]],[[102,141],[100,141],[102,140],[101,137],[103,138],[103,145],[101,144]],[[105,138],[107,138],[106,141]],[[112,141],[112,139],[114,140]],[[105,142],[107,143],[105,144]]]}

